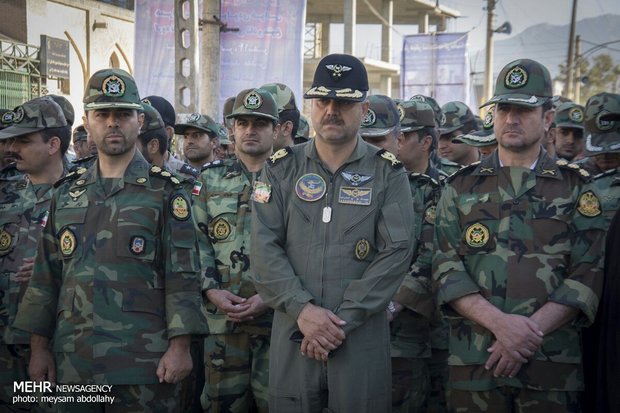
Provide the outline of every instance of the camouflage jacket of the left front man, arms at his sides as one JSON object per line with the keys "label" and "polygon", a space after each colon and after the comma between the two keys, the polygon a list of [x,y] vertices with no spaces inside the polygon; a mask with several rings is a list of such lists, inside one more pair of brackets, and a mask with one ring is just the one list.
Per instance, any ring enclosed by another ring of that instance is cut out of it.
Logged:
{"label": "camouflage jacket of the left front man, arms at his sides", "polygon": [[52,338],[60,383],[157,383],[168,339],[206,330],[188,196],[138,152],[56,186],[15,327]]}

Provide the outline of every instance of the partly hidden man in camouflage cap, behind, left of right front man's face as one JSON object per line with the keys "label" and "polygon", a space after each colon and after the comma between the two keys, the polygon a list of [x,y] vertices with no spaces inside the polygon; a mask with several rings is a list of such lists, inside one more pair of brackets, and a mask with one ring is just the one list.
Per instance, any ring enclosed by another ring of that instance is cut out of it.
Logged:
{"label": "partly hidden man in camouflage cap, behind, left of right front man's face", "polygon": [[[480,159],[478,149],[461,143],[453,143],[452,138],[478,130],[478,123],[472,111],[463,102],[448,102],[441,107],[443,117],[439,125],[439,156],[443,159],[441,169],[447,174]],[[449,161],[449,162],[446,162]]]}

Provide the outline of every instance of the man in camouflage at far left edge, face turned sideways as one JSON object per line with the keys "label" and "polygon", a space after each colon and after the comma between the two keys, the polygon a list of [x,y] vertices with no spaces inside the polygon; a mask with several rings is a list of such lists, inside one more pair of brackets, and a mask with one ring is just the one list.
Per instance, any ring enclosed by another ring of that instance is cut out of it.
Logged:
{"label": "man in camouflage at far left edge, face turned sideways", "polygon": [[71,127],[49,97],[26,102],[14,114],[12,125],[0,131],[21,172],[0,186],[0,410],[25,411],[29,406],[13,405],[12,396],[13,382],[28,380],[30,336],[12,324],[32,273],[52,184],[66,173]]}

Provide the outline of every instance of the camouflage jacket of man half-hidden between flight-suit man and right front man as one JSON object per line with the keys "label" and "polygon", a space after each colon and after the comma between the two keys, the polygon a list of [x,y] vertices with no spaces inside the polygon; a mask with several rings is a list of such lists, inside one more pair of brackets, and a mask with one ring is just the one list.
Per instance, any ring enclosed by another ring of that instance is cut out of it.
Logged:
{"label": "camouflage jacket of man half-hidden between flight-suit man and right front man", "polygon": [[431,287],[433,226],[445,177],[430,165],[427,172],[409,173],[417,250],[414,251],[409,273],[394,295],[394,301],[405,306],[405,309],[390,324],[392,357],[420,358],[430,357],[431,354],[429,322],[436,307]]}

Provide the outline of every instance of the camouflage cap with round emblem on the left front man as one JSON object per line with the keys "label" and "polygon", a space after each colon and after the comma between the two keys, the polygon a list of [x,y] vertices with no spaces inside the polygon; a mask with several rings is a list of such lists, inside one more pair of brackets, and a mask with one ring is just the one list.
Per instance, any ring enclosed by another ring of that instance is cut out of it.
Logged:
{"label": "camouflage cap with round emblem on the left front man", "polygon": [[138,87],[131,75],[122,69],[103,69],[88,80],[84,91],[84,110],[141,110]]}

